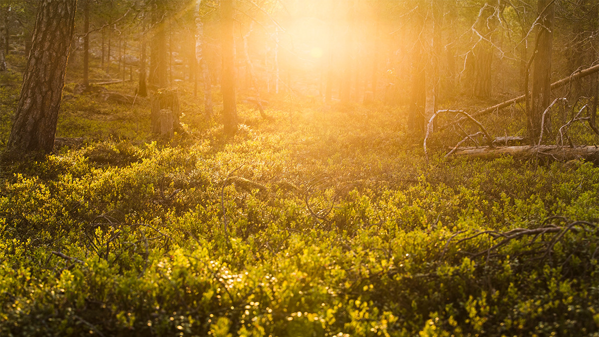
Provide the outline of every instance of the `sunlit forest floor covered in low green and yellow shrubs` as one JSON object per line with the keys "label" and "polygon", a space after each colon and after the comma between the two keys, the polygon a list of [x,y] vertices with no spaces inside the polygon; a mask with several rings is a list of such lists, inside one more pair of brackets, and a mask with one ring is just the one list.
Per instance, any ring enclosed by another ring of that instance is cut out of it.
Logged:
{"label": "sunlit forest floor covered in low green and yellow shrubs", "polygon": [[[0,74],[0,151],[20,76]],[[401,107],[285,94],[227,138],[191,88],[167,140],[146,98],[68,83],[70,145],[2,158],[1,336],[599,334],[594,164],[444,158],[450,131],[426,161]]]}

